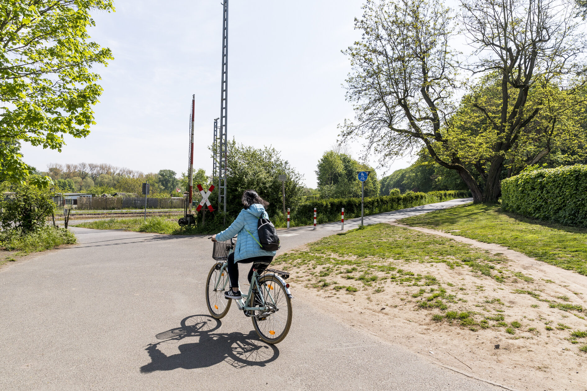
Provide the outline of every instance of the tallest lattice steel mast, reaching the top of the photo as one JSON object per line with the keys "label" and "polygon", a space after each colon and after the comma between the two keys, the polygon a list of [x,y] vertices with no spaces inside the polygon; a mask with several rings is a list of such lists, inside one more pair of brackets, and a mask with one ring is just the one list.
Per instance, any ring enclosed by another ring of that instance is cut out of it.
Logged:
{"label": "tallest lattice steel mast, reaching the top of the photo", "polygon": [[227,192],[227,111],[228,111],[228,0],[222,4],[222,75],[220,89],[220,134],[218,140],[218,209],[224,208],[224,226],[226,226],[226,192]]}

